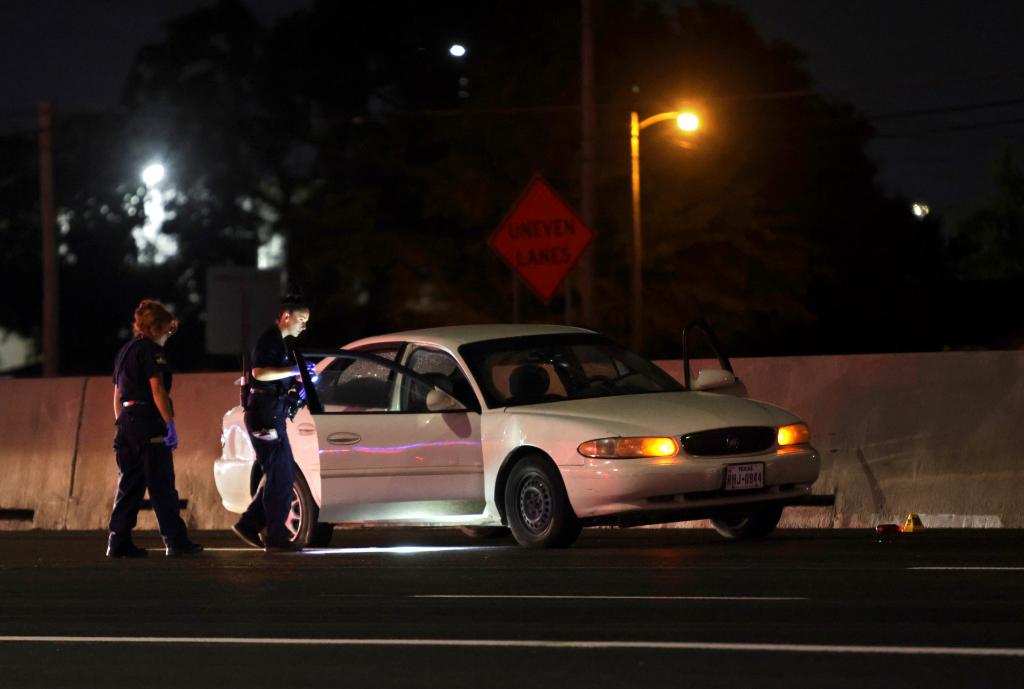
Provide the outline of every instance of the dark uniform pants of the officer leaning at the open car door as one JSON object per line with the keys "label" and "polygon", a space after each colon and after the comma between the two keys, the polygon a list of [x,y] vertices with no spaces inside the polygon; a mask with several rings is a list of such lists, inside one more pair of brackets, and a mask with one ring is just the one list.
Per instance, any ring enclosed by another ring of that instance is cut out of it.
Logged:
{"label": "dark uniform pants of the officer leaning at the open car door", "polygon": [[272,413],[272,428],[278,431],[273,440],[264,440],[253,435],[254,431],[265,430],[261,421],[269,421],[266,414],[246,413],[246,428],[256,450],[256,462],[263,471],[265,480],[253,502],[242,517],[240,524],[257,530],[266,528],[267,546],[287,546],[292,539],[287,521],[292,510],[292,486],[295,483],[295,458],[288,441],[285,428],[284,401],[278,402]]}

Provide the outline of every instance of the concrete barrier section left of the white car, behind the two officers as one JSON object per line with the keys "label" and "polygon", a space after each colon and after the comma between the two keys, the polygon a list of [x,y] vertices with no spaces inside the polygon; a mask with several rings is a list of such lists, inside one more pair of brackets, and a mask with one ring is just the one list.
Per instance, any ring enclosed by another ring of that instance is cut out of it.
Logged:
{"label": "concrete barrier section left of the white car, behind the two officers", "polygon": [[[220,456],[221,417],[238,404],[236,378],[174,379],[181,439],[174,470],[190,528],[227,528],[234,521],[220,505],[213,461]],[[0,381],[0,529],[105,529],[118,476],[110,379]],[[26,520],[29,511],[33,517]],[[138,526],[156,528],[153,512],[141,512]]]}

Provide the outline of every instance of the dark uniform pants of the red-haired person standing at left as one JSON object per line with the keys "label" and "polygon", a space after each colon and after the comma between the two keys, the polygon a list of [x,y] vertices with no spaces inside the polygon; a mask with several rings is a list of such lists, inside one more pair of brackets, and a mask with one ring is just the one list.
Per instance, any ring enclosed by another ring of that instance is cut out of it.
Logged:
{"label": "dark uniform pants of the red-haired person standing at left", "polygon": [[164,544],[175,546],[187,541],[185,523],[178,514],[180,503],[174,487],[171,448],[163,442],[151,442],[153,428],[152,420],[128,413],[118,420],[114,449],[120,473],[110,523],[113,548],[131,543],[131,530],[146,490]]}

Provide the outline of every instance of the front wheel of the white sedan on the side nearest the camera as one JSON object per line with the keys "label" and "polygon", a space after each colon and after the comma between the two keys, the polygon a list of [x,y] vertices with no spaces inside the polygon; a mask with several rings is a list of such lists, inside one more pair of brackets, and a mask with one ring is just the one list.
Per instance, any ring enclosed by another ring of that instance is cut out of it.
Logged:
{"label": "front wheel of the white sedan on the side nearest the camera", "polygon": [[567,548],[583,528],[557,467],[539,455],[512,467],[505,484],[505,514],[513,537],[525,548]]}

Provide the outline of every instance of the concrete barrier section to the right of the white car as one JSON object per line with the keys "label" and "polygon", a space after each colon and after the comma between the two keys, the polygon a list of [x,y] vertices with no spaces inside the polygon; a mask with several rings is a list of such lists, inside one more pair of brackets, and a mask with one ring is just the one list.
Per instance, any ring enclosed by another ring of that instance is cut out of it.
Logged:
{"label": "concrete barrier section to the right of the white car", "polygon": [[[664,361],[682,378],[679,361]],[[710,361],[696,362],[695,373]],[[1024,526],[1024,352],[740,358],[748,396],[805,419],[821,453],[800,525]]]}

